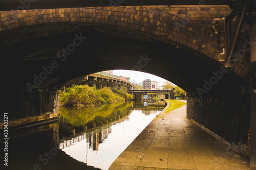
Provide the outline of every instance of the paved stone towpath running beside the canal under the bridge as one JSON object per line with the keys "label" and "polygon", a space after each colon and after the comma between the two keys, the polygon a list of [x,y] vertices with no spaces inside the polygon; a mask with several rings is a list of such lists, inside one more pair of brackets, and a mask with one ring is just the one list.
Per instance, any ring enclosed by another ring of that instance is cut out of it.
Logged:
{"label": "paved stone towpath running beside the canal under the bridge", "polygon": [[186,105],[164,111],[109,169],[250,169],[248,161],[186,119]]}

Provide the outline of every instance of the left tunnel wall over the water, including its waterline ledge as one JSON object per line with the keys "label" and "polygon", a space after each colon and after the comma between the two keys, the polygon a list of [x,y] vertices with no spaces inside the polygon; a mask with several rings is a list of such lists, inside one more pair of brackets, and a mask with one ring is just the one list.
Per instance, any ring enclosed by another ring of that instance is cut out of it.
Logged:
{"label": "left tunnel wall over the water, including its waterline ledge", "polygon": [[[29,91],[6,91],[3,112],[8,113],[8,128],[44,124],[59,117],[59,90],[37,89]],[[0,122],[0,129],[4,122]]]}

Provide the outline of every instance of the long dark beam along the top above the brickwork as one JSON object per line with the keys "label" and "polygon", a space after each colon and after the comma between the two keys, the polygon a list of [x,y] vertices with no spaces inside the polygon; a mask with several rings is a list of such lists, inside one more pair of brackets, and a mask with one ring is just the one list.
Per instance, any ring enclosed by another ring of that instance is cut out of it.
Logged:
{"label": "long dark beam along the top above the brickwork", "polygon": [[229,0],[1,0],[0,11],[106,6],[229,5]]}

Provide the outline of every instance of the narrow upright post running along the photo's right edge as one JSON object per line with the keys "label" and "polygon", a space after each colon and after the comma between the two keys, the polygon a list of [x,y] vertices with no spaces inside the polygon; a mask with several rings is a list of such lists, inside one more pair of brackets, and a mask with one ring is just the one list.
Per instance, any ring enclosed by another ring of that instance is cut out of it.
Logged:
{"label": "narrow upright post running along the photo's right edge", "polygon": [[251,143],[250,143],[250,166],[256,169],[256,0],[252,2],[252,11],[249,14],[250,38],[251,38]]}

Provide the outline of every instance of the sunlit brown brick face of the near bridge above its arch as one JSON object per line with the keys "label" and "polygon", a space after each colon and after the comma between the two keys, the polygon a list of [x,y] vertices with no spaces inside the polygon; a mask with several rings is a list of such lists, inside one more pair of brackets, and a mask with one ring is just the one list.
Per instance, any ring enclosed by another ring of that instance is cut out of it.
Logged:
{"label": "sunlit brown brick face of the near bridge above its arch", "polygon": [[[224,35],[214,20],[230,13],[228,6],[130,6],[1,11],[0,31],[52,22],[86,22],[143,33],[218,61]],[[246,35],[243,35],[246,36]],[[223,63],[222,63],[223,64]],[[248,54],[232,68],[249,80]]]}

